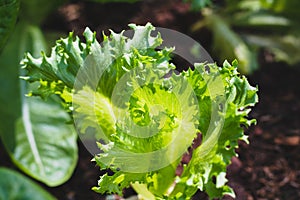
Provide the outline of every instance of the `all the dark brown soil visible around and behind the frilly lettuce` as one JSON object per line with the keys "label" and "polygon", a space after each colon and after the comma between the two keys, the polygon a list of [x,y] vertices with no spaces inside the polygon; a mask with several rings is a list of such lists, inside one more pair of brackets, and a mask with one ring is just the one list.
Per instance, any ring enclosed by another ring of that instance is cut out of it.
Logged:
{"label": "all the dark brown soil visible around and behind the frilly lettuce", "polygon": [[[199,13],[175,0],[146,0],[134,4],[70,3],[60,7],[43,25],[47,31],[81,35],[84,28],[108,33],[127,29],[128,23],[145,24],[178,30],[190,35],[209,49],[207,32],[192,33],[190,27],[201,18]],[[99,34],[100,36],[100,34]],[[249,76],[258,85],[260,102],[251,112],[258,123],[246,133],[250,144],[240,143],[239,157],[228,167],[229,185],[238,200],[300,199],[300,66],[266,62],[262,54],[261,67]],[[3,146],[0,146],[3,149]],[[0,165],[13,167],[9,157],[0,151]],[[79,161],[72,178],[65,184],[48,188],[58,199],[105,199],[91,191],[101,172],[92,156],[79,141]],[[125,191],[126,196],[134,192]],[[194,199],[207,199],[198,192]],[[224,197],[224,199],[231,199]]]}

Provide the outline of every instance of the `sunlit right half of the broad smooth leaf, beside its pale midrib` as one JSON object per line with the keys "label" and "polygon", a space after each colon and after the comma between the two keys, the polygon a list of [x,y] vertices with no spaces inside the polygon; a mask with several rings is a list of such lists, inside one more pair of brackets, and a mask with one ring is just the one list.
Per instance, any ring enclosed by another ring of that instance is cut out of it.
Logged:
{"label": "sunlit right half of the broad smooth leaf, beside its pale midrib", "polygon": [[23,99],[14,137],[3,137],[5,143],[9,138],[14,142],[7,148],[16,165],[49,186],[67,181],[77,161],[77,134],[68,121],[69,115],[50,98]]}

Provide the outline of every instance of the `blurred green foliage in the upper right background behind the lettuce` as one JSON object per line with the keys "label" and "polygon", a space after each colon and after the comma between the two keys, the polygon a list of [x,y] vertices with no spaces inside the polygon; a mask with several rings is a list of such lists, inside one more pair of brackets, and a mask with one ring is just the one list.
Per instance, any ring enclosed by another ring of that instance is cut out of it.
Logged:
{"label": "blurred green foliage in the upper right background behind the lettuce", "polygon": [[226,0],[224,5],[202,9],[204,17],[192,29],[210,29],[219,61],[237,58],[245,74],[258,68],[262,48],[275,61],[296,65],[300,62],[299,7],[299,0]]}

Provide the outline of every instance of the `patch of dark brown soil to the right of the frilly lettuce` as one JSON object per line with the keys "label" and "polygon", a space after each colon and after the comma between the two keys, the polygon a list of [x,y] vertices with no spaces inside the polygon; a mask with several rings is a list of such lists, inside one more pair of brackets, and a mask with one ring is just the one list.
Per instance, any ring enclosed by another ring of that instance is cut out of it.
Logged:
{"label": "patch of dark brown soil to the right of the frilly lettuce", "polygon": [[[300,67],[300,66],[299,66]],[[300,199],[300,71],[280,63],[264,64],[250,76],[260,102],[251,115],[239,158],[228,167],[237,199]]]}

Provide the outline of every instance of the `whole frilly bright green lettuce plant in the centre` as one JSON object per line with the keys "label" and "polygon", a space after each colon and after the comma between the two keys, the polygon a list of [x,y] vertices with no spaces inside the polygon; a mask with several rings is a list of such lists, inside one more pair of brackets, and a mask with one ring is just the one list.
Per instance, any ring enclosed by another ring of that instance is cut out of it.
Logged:
{"label": "whole frilly bright green lettuce plant in the centre", "polygon": [[[244,127],[255,123],[247,115],[257,88],[236,61],[176,73],[174,48],[157,50],[163,38],[151,35],[151,24],[130,28],[132,38],[111,31],[101,44],[87,28],[85,42],[70,33],[49,57],[26,54],[23,79],[36,82],[30,95],[58,95],[80,134],[94,133],[101,151],[93,160],[113,171],[96,192],[122,195],[131,186],[144,199],[190,199],[199,189],[210,198],[234,196],[226,167],[238,141],[247,142]],[[191,159],[182,162],[188,150]]]}

